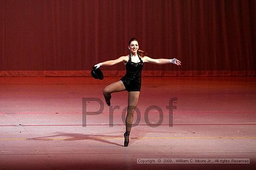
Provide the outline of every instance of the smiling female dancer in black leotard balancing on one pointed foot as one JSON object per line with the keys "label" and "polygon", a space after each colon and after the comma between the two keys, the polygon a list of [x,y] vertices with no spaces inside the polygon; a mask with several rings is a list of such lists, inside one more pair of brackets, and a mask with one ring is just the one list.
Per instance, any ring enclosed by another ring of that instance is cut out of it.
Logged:
{"label": "smiling female dancer in black leotard balancing on one pointed foot", "polygon": [[137,106],[140,90],[141,90],[141,71],[143,63],[155,63],[155,64],[168,64],[173,63],[181,65],[181,62],[176,58],[173,59],[153,59],[147,55],[146,52],[139,50],[138,40],[131,38],[128,43],[128,49],[130,54],[127,56],[119,57],[115,60],[105,61],[98,63],[94,67],[99,68],[101,66],[111,66],[117,63],[123,62],[126,67],[126,74],[121,80],[109,84],[103,89],[103,95],[106,103],[110,106],[111,93],[121,92],[124,90],[128,91],[128,109],[126,116],[126,132],[124,133],[124,146],[129,144],[129,135],[132,128],[133,114]]}

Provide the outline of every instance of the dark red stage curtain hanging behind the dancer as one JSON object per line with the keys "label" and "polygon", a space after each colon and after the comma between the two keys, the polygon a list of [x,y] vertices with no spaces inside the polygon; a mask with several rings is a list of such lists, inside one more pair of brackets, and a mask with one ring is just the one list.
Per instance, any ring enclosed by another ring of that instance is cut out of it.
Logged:
{"label": "dark red stage curtain hanging behind the dancer", "polygon": [[256,0],[0,0],[0,76],[89,75],[131,37],[182,61],[146,63],[147,76],[255,76],[255,16]]}

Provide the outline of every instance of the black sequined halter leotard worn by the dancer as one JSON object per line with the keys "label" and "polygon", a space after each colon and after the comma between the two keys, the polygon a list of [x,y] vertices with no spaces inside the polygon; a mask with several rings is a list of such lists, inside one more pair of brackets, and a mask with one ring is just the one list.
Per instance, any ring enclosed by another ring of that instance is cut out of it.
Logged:
{"label": "black sequined halter leotard worn by the dancer", "polygon": [[131,59],[131,54],[129,55],[129,60],[125,64],[126,74],[121,78],[126,90],[130,91],[141,91],[141,72],[143,67],[143,61],[138,55],[140,62],[134,63]]}

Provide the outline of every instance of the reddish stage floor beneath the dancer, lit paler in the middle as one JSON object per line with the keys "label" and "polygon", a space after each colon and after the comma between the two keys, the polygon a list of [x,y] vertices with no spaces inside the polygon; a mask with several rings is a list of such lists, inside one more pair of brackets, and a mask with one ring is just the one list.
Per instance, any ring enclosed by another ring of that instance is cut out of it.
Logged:
{"label": "reddish stage floor beneath the dancer, lit paler in the middle", "polygon": [[119,79],[0,77],[0,170],[256,169],[256,77],[143,77],[128,147],[128,93],[102,95]]}

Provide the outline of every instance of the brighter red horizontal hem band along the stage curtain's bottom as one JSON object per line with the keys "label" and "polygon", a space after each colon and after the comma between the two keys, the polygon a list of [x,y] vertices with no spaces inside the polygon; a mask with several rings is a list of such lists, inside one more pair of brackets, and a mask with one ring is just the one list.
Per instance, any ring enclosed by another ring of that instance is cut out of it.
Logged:
{"label": "brighter red horizontal hem band along the stage curtain's bottom", "polygon": [[[102,70],[104,76],[123,76],[123,70]],[[68,71],[0,71],[0,77],[81,77],[91,76],[91,70],[68,70]],[[212,70],[193,70],[193,71],[162,71],[162,70],[144,70],[142,76],[256,76],[256,70],[241,71],[212,71]]]}

